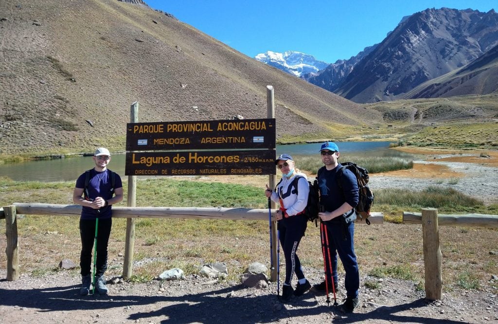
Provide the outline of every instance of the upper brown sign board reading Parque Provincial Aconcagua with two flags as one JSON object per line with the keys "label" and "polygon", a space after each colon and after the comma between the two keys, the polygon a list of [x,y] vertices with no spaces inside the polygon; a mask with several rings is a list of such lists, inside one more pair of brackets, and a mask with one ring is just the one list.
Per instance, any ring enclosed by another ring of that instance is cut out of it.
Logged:
{"label": "upper brown sign board reading Parque Provincial Aconcagua with two flags", "polygon": [[275,119],[128,123],[126,151],[275,149]]}

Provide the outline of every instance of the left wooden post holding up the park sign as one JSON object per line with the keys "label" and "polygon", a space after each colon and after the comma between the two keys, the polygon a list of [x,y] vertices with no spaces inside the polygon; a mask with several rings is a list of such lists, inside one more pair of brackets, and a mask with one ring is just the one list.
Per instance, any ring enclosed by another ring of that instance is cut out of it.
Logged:
{"label": "left wooden post holding up the park sign", "polygon": [[[138,102],[130,107],[130,123],[138,123]],[[128,175],[128,207],[136,206],[136,175]],[[129,280],[133,270],[133,249],[135,247],[135,219],[126,219],[126,241],[124,243],[123,278]]]}

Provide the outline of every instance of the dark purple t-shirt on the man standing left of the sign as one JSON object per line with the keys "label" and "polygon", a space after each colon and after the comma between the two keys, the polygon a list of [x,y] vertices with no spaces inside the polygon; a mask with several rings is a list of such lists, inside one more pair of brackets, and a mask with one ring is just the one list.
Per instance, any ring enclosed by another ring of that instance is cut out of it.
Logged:
{"label": "dark purple t-shirt on the man standing left of the sign", "polygon": [[[88,183],[88,197],[90,200],[94,200],[97,197],[102,197],[109,200],[114,195],[114,190],[116,188],[123,187],[121,182],[121,177],[116,173],[114,188],[112,187],[111,180],[111,170],[106,169],[102,172],[97,172],[95,169],[90,170],[90,182]],[[85,189],[85,178],[86,172],[81,174],[76,180],[76,188]],[[94,209],[91,207],[83,206],[81,211],[81,219],[107,219],[112,217],[111,205],[102,207],[100,209]]]}

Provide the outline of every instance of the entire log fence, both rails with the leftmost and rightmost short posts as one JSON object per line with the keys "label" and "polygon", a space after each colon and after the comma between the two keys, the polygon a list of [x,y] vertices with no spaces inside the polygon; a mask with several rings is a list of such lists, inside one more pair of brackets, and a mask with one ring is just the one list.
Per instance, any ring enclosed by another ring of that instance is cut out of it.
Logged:
{"label": "entire log fence, both rails with the leftmost and rightmost short posts", "polygon": [[[7,237],[7,280],[19,278],[18,242],[16,214],[77,216],[81,214],[79,205],[57,205],[41,203],[14,203],[0,208],[0,219],[5,219]],[[224,208],[224,207],[113,207],[116,218],[203,218],[234,220],[268,220],[268,209]],[[274,213],[272,213],[274,217]],[[382,224],[383,214],[372,213],[372,224]],[[356,223],[365,224],[362,220]],[[428,300],[441,300],[442,254],[439,241],[439,225],[493,227],[498,228],[498,215],[467,214],[438,215],[437,209],[425,208],[421,213],[403,212],[403,223],[422,224],[425,270],[425,295]],[[275,243],[275,242],[274,242]],[[276,245],[276,244],[273,244]],[[275,248],[275,247],[272,247]],[[131,260],[128,260],[131,263]]]}

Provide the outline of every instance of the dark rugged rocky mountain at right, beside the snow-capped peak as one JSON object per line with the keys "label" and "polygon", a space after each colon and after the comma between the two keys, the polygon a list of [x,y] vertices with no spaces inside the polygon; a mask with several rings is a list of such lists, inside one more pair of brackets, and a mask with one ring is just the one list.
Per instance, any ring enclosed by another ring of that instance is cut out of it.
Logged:
{"label": "dark rugged rocky mountain at right, beside the snow-capped peak", "polygon": [[[349,60],[338,60],[323,70],[300,76],[357,103],[433,98],[450,93],[488,94],[498,89],[491,72],[498,68],[493,59],[497,45],[495,10],[484,13],[432,8],[404,17],[381,43],[365,48]],[[483,62],[487,62],[486,73]],[[475,72],[477,68],[479,73]],[[460,76],[465,75],[463,79],[457,77],[457,70]],[[436,81],[446,74],[453,81],[446,77],[444,82]],[[469,79],[474,80],[468,82]],[[430,90],[417,88],[421,84]]]}

